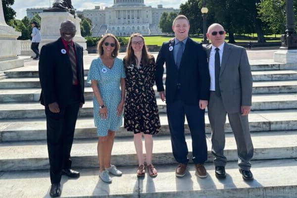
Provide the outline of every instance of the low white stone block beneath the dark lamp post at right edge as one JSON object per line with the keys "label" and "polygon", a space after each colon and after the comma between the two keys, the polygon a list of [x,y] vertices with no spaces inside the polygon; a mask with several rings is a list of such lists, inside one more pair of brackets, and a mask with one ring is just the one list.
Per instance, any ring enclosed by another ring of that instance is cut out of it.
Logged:
{"label": "low white stone block beneath the dark lamp post at right edge", "polygon": [[275,62],[297,63],[297,49],[279,49],[273,54]]}

